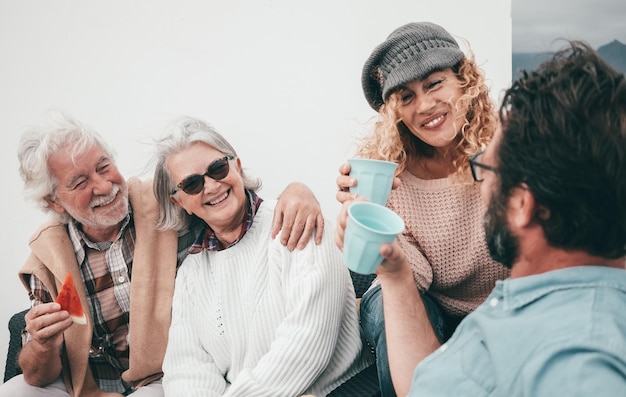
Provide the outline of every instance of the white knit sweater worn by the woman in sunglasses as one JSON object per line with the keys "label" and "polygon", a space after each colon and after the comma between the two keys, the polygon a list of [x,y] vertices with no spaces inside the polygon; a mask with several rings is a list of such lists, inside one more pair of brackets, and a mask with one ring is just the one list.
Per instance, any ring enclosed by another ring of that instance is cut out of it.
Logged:
{"label": "white knit sweater worn by the woman in sunglasses", "polygon": [[166,396],[325,396],[371,362],[333,231],[289,252],[271,239],[274,205],[239,243],[179,269]]}

